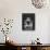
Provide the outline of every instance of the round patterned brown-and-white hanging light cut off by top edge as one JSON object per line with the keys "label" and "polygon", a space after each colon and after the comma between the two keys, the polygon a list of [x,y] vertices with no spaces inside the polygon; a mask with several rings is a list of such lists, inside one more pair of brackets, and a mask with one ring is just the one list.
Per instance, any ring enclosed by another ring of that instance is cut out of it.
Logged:
{"label": "round patterned brown-and-white hanging light cut off by top edge", "polygon": [[47,4],[47,0],[32,0],[33,5],[37,9],[41,9]]}

